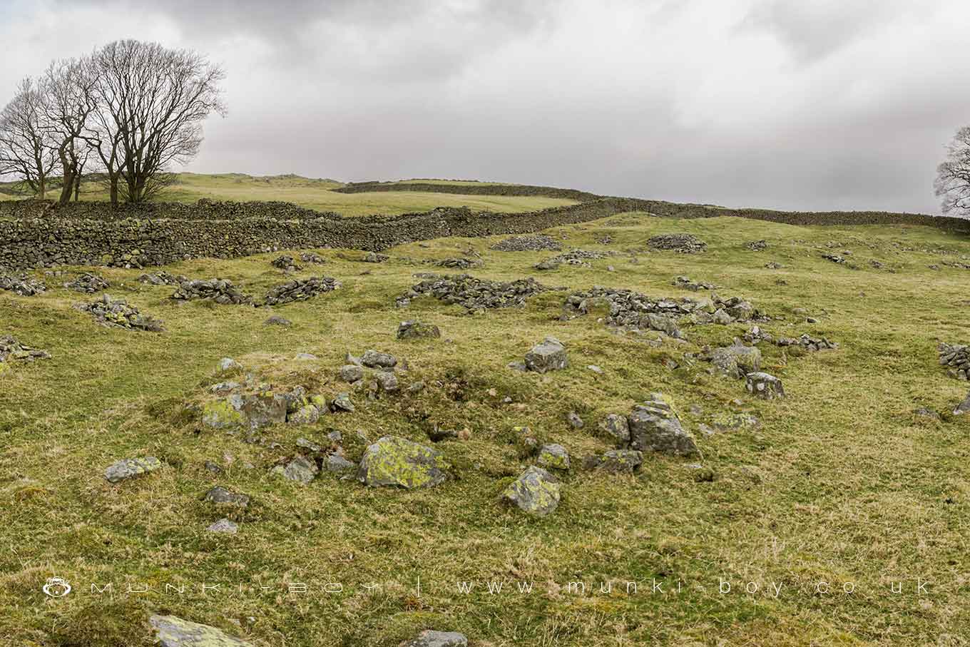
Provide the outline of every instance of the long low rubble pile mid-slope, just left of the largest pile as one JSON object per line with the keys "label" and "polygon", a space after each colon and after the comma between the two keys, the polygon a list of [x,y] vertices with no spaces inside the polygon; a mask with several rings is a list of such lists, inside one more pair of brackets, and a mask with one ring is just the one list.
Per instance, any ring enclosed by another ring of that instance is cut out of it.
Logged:
{"label": "long low rubble pile mid-slope, just left of the largest pile", "polygon": [[501,282],[471,275],[438,275],[412,285],[396,303],[398,307],[406,307],[415,297],[426,294],[473,312],[492,307],[523,306],[529,297],[552,289],[534,278]]}

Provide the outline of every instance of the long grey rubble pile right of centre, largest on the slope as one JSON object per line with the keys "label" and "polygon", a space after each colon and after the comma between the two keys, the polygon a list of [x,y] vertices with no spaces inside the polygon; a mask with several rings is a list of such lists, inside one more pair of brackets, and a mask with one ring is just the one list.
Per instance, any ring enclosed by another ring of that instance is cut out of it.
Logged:
{"label": "long grey rubble pile right of centre, largest on the slope", "polygon": [[566,297],[561,318],[565,321],[598,308],[603,309],[607,325],[657,330],[674,338],[683,337],[678,320],[684,315],[692,317],[698,324],[728,324],[765,318],[750,302],[738,297],[725,300],[712,294],[710,299],[655,300],[632,290],[602,286]]}

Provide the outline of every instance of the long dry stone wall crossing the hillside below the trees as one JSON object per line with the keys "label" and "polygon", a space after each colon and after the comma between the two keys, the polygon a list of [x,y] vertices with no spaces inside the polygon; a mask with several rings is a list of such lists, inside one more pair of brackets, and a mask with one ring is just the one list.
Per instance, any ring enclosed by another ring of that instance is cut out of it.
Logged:
{"label": "long dry stone wall crossing the hillside below the trees", "polygon": [[928,225],[970,233],[970,220],[922,214],[723,210],[634,198],[525,213],[436,209],[403,215],[342,217],[288,203],[147,204],[113,210],[102,203],[0,203],[0,267],[145,267],[195,258],[236,258],[278,249],[342,247],[377,251],[443,237],[528,234],[626,211],[667,217],[738,216],[798,225]]}

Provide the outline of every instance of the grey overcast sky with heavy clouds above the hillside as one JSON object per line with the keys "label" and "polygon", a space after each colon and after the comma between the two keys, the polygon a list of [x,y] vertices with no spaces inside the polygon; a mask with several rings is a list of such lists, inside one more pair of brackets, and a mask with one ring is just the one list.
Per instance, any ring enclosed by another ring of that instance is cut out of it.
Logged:
{"label": "grey overcast sky with heavy clouds above the hillside", "polygon": [[188,170],[938,212],[967,0],[0,0],[0,104],[120,38],[206,53]]}

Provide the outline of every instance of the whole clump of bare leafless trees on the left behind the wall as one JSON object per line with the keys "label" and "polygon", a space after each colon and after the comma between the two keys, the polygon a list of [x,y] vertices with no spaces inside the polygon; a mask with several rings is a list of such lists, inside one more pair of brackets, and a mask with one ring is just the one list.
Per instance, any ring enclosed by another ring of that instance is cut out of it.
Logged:
{"label": "whole clump of bare leafless trees on the left behind the wall", "polygon": [[134,40],[54,61],[0,112],[0,176],[43,199],[59,172],[65,204],[94,161],[113,205],[145,202],[171,183],[172,164],[198,154],[206,117],[225,115],[224,78],[195,51]]}

